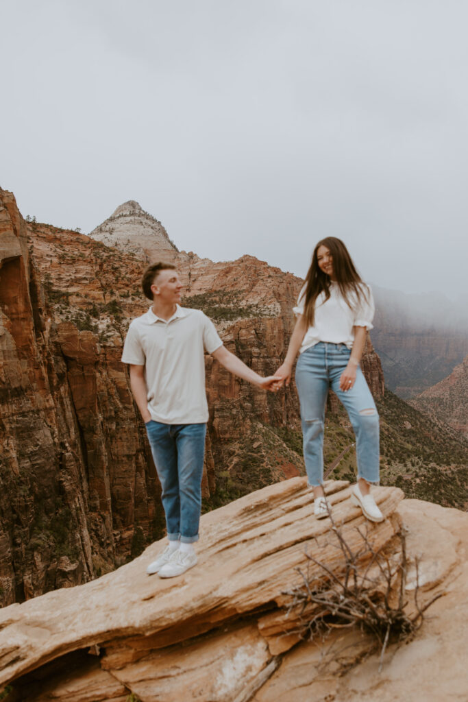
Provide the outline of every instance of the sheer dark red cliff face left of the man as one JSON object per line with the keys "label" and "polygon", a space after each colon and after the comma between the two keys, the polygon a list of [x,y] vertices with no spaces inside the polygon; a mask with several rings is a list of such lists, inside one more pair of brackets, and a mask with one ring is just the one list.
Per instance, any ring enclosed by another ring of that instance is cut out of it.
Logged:
{"label": "sheer dark red cliff face left of the man", "polygon": [[10,604],[113,569],[157,534],[160,500],[119,351],[54,319],[26,223],[0,194],[0,599]]}

